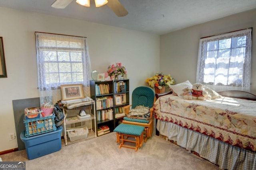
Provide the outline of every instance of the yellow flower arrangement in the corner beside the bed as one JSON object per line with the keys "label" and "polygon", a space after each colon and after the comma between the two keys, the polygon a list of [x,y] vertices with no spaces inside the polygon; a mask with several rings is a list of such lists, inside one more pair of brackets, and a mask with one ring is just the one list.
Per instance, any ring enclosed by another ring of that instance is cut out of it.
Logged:
{"label": "yellow flower arrangement in the corner beside the bed", "polygon": [[162,73],[156,73],[153,77],[150,77],[146,80],[146,83],[152,88],[157,87],[159,89],[162,89],[163,86],[170,86],[174,85],[175,80],[168,75],[164,75]]}

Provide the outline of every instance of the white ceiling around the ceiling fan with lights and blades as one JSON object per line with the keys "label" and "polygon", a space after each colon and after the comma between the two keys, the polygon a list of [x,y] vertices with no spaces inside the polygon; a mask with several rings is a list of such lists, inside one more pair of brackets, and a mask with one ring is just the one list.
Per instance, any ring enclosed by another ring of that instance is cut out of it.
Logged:
{"label": "white ceiling around the ceiling fan with lights and blades", "polygon": [[96,8],[94,0],[90,7],[73,0],[65,9],[52,8],[54,1],[0,0],[0,6],[158,35],[256,8],[256,0],[119,0],[129,14],[117,17],[106,5]]}

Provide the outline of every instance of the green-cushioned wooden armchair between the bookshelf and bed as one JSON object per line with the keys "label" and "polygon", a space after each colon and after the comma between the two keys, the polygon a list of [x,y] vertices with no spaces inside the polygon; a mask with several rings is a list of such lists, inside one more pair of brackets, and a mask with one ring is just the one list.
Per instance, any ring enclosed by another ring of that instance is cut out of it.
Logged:
{"label": "green-cushioned wooden armchair between the bookshelf and bed", "polygon": [[130,119],[124,117],[122,123],[130,125],[139,125],[145,127],[146,139],[151,137],[154,130],[154,109],[153,104],[155,101],[155,93],[150,87],[140,86],[134,89],[132,92],[132,105],[124,107],[126,115],[129,114],[130,109],[134,109],[136,106],[145,106],[150,108],[150,121],[142,119]]}

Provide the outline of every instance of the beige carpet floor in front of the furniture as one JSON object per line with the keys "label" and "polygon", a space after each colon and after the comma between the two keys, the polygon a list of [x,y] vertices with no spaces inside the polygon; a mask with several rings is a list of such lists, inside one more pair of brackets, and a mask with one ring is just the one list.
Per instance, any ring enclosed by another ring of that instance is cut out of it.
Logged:
{"label": "beige carpet floor in front of the furniture", "polygon": [[2,161],[25,161],[26,170],[220,170],[156,135],[142,148],[118,148],[116,133],[72,143],[58,152],[28,160],[26,150],[0,155]]}

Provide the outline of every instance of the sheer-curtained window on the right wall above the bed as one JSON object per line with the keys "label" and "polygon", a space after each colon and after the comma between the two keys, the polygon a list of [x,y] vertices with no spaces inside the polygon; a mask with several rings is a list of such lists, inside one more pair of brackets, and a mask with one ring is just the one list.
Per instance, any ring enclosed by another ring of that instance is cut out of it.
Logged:
{"label": "sheer-curtained window on the right wall above the bed", "polygon": [[196,82],[250,91],[251,43],[252,29],[200,39]]}

